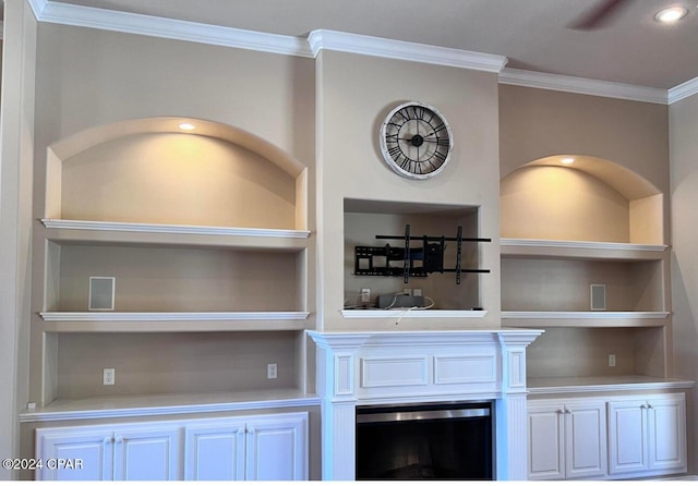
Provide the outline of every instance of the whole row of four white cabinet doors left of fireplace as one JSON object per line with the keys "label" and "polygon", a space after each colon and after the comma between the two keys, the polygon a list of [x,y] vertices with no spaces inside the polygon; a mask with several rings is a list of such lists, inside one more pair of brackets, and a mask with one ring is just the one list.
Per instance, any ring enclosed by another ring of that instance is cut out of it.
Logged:
{"label": "whole row of four white cabinet doors left of fireplace", "polygon": [[36,479],[306,481],[308,412],[36,429]]}

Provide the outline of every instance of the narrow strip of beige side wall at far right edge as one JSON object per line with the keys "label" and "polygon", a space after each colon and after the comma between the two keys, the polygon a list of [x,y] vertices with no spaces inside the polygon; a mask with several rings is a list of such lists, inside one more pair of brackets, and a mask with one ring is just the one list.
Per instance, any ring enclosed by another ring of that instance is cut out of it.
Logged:
{"label": "narrow strip of beige side wall at far right edge", "polygon": [[[676,375],[698,379],[698,96],[670,108],[672,294],[674,307],[674,366]],[[694,403],[698,391],[694,390]],[[698,411],[690,412],[689,458],[698,464],[695,447]]]}

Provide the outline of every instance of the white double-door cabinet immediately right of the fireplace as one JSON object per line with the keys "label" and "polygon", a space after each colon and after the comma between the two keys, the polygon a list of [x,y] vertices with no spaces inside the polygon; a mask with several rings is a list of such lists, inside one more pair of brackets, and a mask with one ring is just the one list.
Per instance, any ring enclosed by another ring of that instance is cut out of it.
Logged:
{"label": "white double-door cabinet immediately right of the fireplace", "polygon": [[605,402],[535,400],[528,405],[529,479],[606,474]]}

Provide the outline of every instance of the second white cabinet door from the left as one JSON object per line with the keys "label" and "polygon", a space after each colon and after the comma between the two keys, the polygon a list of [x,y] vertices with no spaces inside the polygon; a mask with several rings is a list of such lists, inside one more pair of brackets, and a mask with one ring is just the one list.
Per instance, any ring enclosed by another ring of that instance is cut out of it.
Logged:
{"label": "second white cabinet door from the left", "polygon": [[181,479],[179,426],[143,427],[130,425],[115,429],[116,481]]}

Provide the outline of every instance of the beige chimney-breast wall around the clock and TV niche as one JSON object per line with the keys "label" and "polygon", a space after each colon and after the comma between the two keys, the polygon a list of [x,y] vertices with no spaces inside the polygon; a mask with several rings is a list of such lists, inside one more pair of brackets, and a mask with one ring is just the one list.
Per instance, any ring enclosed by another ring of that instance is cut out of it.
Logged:
{"label": "beige chimney-breast wall around the clock and TV niche", "polygon": [[[383,161],[378,129],[404,101],[423,101],[450,123],[455,155],[437,177],[412,181]],[[496,75],[323,51],[317,61],[318,308],[325,329],[395,329],[394,319],[344,319],[344,199],[480,206],[484,319],[404,319],[402,329],[498,326],[498,129]],[[454,229],[455,230],[455,229]],[[440,321],[443,320],[443,321]]]}

